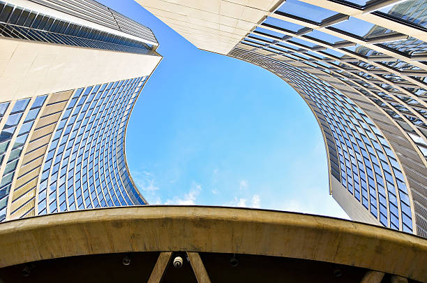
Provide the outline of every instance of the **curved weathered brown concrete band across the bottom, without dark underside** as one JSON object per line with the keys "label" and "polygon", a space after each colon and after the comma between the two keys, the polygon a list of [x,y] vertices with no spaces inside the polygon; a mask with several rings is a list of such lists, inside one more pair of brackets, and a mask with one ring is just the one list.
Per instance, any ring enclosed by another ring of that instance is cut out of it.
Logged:
{"label": "curved weathered brown concrete band across the bottom, without dark underside", "polygon": [[427,281],[427,240],[329,217],[149,205],[66,212],[0,224],[0,267],[65,256],[154,251],[286,256]]}

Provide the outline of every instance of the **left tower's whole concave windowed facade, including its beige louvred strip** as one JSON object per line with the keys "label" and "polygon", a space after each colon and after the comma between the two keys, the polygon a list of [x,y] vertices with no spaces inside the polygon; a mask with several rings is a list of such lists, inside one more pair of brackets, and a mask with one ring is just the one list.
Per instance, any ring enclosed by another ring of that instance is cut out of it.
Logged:
{"label": "left tower's whole concave windowed facade, including its beige louvred strip", "polygon": [[[126,124],[146,80],[75,89],[69,99],[51,94],[1,103],[0,221],[7,212],[25,217],[147,204],[130,178],[124,155]],[[46,118],[53,119],[43,123]],[[50,138],[43,145],[37,132],[49,126],[53,131],[43,135]],[[24,160],[24,154],[43,147],[40,166]],[[30,169],[22,172],[27,164]]]}

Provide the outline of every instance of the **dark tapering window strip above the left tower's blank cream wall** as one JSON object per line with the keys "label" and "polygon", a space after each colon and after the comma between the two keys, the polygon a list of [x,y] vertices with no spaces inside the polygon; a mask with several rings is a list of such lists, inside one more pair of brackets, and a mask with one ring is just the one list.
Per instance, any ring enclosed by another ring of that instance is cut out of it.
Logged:
{"label": "dark tapering window strip above the left tower's blank cream wall", "polygon": [[153,45],[66,22],[0,1],[0,36],[145,54]]}

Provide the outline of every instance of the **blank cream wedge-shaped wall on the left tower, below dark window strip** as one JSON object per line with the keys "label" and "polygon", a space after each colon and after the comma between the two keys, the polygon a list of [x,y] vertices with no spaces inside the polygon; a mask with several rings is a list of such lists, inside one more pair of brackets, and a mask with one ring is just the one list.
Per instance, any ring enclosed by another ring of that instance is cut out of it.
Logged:
{"label": "blank cream wedge-shaped wall on the left tower, below dark window strip", "polygon": [[162,57],[0,38],[0,101],[150,75]]}

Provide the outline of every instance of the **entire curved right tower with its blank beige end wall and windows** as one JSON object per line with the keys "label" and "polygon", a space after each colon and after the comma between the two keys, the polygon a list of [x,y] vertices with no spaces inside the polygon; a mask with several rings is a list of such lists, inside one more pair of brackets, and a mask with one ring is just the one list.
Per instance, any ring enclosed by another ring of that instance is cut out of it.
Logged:
{"label": "entire curved right tower with its blank beige end wall and windows", "polygon": [[347,215],[427,237],[426,1],[136,1],[304,98]]}

